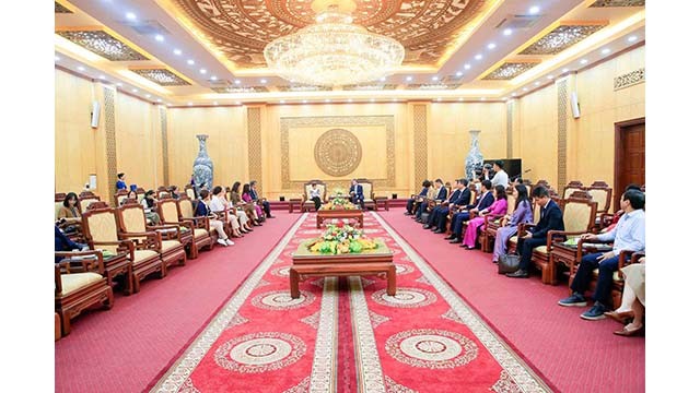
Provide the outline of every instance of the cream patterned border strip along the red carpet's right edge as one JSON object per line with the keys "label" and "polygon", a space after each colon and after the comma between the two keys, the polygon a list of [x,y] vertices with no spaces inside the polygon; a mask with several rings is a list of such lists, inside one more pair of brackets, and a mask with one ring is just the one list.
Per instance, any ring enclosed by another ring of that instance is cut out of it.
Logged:
{"label": "cream patterned border strip along the red carpet's right edge", "polygon": [[400,237],[394,228],[375,212],[371,214],[384,227],[384,229],[394,238],[396,243],[406,252],[406,254],[416,263],[416,266],[423,273],[430,284],[438,289],[450,307],[455,310],[457,317],[466,324],[474,334],[479,338],[483,346],[491,353],[493,358],[503,367],[503,369],[517,383],[523,392],[552,392],[552,390],[530,369],[524,360],[520,358],[505,344],[500,336],[494,333],[487,324],[477,315],[475,311],[457,295],[454,289],[444,279],[435,273],[435,271],[413,250],[413,248]]}

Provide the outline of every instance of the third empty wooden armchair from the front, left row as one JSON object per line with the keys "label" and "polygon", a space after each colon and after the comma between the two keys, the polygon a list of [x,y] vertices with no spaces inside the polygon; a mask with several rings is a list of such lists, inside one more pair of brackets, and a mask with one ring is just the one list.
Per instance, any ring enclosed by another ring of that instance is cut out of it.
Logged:
{"label": "third empty wooden armchair from the front, left row", "polygon": [[185,265],[185,246],[179,241],[177,225],[147,225],[143,206],[138,203],[125,204],[117,209],[119,236],[135,243],[139,250],[153,250],[163,261],[163,275],[167,266]]}

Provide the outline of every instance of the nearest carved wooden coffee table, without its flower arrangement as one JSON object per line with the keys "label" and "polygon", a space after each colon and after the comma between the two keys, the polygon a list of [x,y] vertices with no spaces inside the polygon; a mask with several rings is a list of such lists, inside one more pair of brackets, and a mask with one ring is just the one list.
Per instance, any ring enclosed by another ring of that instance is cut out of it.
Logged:
{"label": "nearest carved wooden coffee table, without its flower arrangement", "polygon": [[[376,241],[376,240],[375,240]],[[322,254],[308,251],[303,242],[292,254],[289,271],[290,291],[298,299],[299,282],[310,277],[365,276],[373,275],[387,281],[386,294],[396,295],[396,265],[392,250],[382,241],[374,250],[348,254]]]}

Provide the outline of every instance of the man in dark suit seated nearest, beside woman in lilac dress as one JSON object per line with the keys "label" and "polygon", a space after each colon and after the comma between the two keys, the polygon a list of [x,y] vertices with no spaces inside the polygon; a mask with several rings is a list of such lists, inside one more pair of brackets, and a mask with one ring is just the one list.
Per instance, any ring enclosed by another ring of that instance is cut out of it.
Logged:
{"label": "man in dark suit seated nearest, beside woman in lilac dress", "polygon": [[533,250],[547,245],[547,233],[550,230],[564,230],[564,221],[561,209],[549,198],[549,191],[542,186],[533,190],[535,203],[539,205],[539,223],[527,235],[517,239],[517,252],[521,254],[521,264],[517,271],[506,273],[512,278],[527,278],[529,265],[533,259]]}

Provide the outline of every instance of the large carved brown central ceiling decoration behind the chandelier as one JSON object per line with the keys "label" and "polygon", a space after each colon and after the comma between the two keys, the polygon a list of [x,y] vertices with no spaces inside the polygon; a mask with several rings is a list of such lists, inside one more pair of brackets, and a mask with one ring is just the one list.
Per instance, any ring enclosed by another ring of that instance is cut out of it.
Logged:
{"label": "large carved brown central ceiling decoration behind the chandelier", "polygon": [[[213,50],[240,69],[266,66],[265,46],[313,24],[308,0],[170,0],[185,23],[198,29]],[[362,0],[353,23],[398,40],[404,66],[435,66],[459,43],[465,26],[481,15],[488,0]]]}

